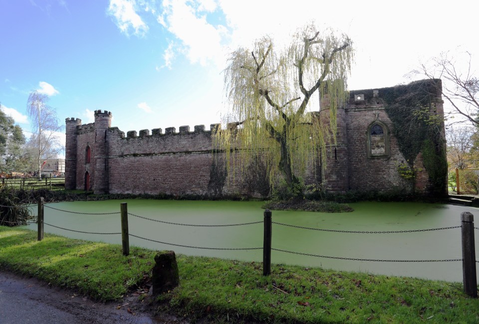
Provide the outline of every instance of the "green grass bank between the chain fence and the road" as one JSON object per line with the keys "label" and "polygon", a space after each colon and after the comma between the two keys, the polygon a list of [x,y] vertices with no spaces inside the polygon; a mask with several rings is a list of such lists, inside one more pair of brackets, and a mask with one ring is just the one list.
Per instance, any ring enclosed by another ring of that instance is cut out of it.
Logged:
{"label": "green grass bank between the chain fence and the road", "polygon": [[[0,226],[0,267],[77,289],[98,300],[119,300],[149,279],[155,251],[68,239]],[[319,268],[262,265],[178,256],[180,287],[161,308],[216,322],[478,323],[479,299],[462,284]],[[144,296],[143,296],[144,297]],[[140,298],[143,298],[140,297]]]}

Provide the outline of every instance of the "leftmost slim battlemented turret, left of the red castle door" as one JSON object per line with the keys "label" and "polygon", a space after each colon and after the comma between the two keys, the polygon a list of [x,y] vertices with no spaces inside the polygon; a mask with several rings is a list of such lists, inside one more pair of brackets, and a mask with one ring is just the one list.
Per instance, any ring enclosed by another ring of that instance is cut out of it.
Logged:
{"label": "leftmost slim battlemented turret, left of the red castle door", "polygon": [[65,189],[76,189],[77,126],[81,119],[67,118],[65,144]]}

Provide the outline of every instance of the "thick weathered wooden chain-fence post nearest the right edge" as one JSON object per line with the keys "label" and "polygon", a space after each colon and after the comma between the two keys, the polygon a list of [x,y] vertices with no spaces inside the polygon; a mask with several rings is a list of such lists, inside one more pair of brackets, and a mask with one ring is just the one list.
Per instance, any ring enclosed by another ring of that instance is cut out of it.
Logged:
{"label": "thick weathered wooden chain-fence post nearest the right edge", "polygon": [[464,292],[473,298],[478,298],[478,280],[476,278],[476,247],[474,242],[474,216],[469,211],[461,213],[461,232],[463,243]]}

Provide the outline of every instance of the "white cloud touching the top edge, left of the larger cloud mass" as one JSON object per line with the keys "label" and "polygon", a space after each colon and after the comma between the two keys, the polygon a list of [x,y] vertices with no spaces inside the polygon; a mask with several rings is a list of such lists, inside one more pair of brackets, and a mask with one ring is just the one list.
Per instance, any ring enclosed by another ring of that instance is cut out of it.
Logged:
{"label": "white cloud touching the top edge, left of the larger cloud mass", "polygon": [[[127,36],[130,35],[130,28],[137,36],[143,36],[148,31],[148,25],[136,12],[136,6],[135,0],[110,0],[107,9],[107,13],[114,18],[118,28]],[[150,11],[148,6],[145,10]]]}

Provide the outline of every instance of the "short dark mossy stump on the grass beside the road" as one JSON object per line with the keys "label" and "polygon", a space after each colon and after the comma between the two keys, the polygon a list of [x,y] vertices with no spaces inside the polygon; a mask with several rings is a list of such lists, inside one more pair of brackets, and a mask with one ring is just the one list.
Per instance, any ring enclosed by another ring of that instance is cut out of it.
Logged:
{"label": "short dark mossy stump on the grass beside the road", "polygon": [[180,283],[175,251],[160,251],[155,256],[152,274],[153,295],[167,293]]}

